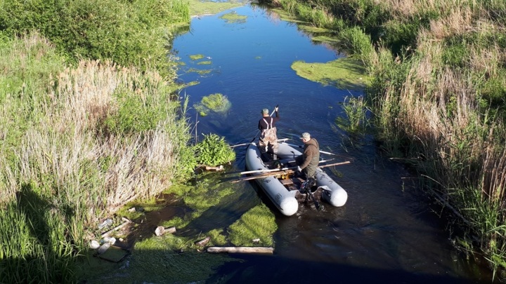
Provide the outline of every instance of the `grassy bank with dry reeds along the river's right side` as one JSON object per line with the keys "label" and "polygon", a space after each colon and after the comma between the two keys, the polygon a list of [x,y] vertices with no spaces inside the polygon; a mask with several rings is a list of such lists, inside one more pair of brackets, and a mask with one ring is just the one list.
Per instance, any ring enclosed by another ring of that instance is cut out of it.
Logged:
{"label": "grassy bank with dry reeds along the river's right side", "polygon": [[[506,267],[504,1],[263,1],[335,34],[374,80],[389,156],[412,165],[469,254]],[[500,275],[504,278],[504,274]]]}

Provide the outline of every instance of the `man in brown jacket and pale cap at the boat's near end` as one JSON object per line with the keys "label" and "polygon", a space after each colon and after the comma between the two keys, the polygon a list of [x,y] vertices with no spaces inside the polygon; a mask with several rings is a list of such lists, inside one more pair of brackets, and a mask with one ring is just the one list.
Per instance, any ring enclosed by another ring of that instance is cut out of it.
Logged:
{"label": "man in brown jacket and pale cap at the boat's near end", "polygon": [[302,133],[300,139],[304,142],[304,153],[295,158],[297,171],[304,172],[306,177],[314,177],[320,161],[320,145],[309,133]]}

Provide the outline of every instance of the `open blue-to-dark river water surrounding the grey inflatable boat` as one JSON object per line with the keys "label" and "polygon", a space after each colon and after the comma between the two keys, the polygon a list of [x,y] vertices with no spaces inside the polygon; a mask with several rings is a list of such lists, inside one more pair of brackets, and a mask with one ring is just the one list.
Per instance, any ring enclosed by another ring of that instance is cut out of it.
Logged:
{"label": "open blue-to-dark river water surrounding the grey inflatable boat", "polygon": [[[295,60],[335,60],[339,52],[312,43],[296,25],[261,8],[231,11],[247,15],[247,20],[227,23],[219,18],[223,13],[195,18],[191,31],[174,40],[174,50],[186,62],[179,78],[200,82],[183,91],[190,105],[213,93],[226,95],[232,104],[226,114],[204,117],[190,109],[195,133],[216,133],[229,144],[249,142],[257,134],[261,109],[272,111],[279,104],[278,137],[300,144],[297,137],[307,131],[323,151],[341,155],[336,162],[351,161],[326,169],[349,198],[342,208],[326,205],[320,212],[301,205],[291,217],[273,208],[279,226],[274,255],[238,255],[246,262],[224,265],[208,283],[491,283],[486,269],[452,247],[444,222],[417,191],[415,177],[403,165],[382,158],[372,140],[350,143],[337,129],[339,103],[362,93],[322,86],[290,68]],[[197,54],[208,58],[190,60]],[[203,60],[212,64],[197,65]],[[190,68],[213,72],[186,73]],[[243,170],[244,149],[236,149],[234,167]],[[202,224],[226,226],[258,202],[269,205],[254,182],[235,187],[235,201],[214,208]]]}

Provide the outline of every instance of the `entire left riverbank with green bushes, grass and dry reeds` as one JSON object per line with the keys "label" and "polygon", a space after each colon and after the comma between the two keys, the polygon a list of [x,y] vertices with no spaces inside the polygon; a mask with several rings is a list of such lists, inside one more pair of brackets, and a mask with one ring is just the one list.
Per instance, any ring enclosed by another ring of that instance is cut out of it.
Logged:
{"label": "entire left riverbank with green bushes, grass and dry reeds", "polygon": [[77,282],[105,217],[193,173],[166,48],[189,19],[179,0],[1,2],[1,283]]}

